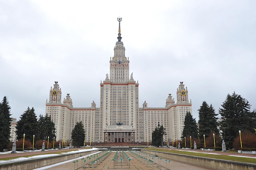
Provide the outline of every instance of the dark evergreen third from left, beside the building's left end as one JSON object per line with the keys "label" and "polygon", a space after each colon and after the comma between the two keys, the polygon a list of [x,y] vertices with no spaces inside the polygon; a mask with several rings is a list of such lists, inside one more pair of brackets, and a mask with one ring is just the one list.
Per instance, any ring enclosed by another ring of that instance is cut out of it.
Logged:
{"label": "dark evergreen third from left, beside the building's left end", "polygon": [[56,128],[55,124],[53,123],[52,119],[50,116],[47,114],[45,117],[43,115],[39,115],[38,119],[38,140],[48,140],[49,137],[49,142],[53,141],[53,138],[56,138]]}

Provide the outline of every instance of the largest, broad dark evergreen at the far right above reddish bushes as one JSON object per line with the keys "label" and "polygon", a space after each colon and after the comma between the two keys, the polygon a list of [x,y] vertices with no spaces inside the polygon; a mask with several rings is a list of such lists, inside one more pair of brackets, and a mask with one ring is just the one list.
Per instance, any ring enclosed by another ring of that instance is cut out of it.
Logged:
{"label": "largest, broad dark evergreen at the far right above reddish bushes", "polygon": [[256,114],[250,112],[249,102],[235,92],[232,95],[228,94],[221,106],[219,114],[222,139],[225,140],[227,148],[231,149],[234,139],[239,135],[239,130],[254,132]]}

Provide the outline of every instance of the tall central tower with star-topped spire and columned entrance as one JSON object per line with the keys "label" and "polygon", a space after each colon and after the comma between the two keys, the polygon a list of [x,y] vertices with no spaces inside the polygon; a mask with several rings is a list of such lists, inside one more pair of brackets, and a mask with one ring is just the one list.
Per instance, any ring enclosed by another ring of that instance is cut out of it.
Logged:
{"label": "tall central tower with star-topped spire and columned entrance", "polygon": [[101,108],[103,141],[133,142],[136,133],[136,115],[138,113],[138,87],[132,74],[129,78],[129,60],[121,42],[122,18],[119,22],[118,37],[114,47],[114,56],[110,57],[110,78],[101,82]]}

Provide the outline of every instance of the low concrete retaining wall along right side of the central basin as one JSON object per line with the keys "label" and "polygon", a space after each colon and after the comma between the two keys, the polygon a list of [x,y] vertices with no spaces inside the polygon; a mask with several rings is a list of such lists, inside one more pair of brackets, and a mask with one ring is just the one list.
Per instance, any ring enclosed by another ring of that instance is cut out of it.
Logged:
{"label": "low concrete retaining wall along right side of the central basin", "polygon": [[150,155],[158,155],[159,157],[162,157],[165,159],[189,163],[191,165],[196,165],[196,166],[209,168],[213,170],[256,170],[256,164],[254,163],[226,161],[226,160],[220,160],[220,159],[196,157],[191,155],[181,155],[181,154],[175,154],[170,152],[159,152],[159,151],[152,151],[152,150],[141,150],[141,152],[144,152]]}

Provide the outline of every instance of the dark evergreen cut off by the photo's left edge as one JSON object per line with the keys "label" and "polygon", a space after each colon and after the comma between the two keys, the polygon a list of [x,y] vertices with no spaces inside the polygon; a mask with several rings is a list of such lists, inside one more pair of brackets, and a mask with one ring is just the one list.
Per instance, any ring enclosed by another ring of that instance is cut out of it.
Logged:
{"label": "dark evergreen cut off by the photo's left edge", "polygon": [[9,102],[4,96],[2,102],[0,103],[0,151],[7,148],[9,146],[9,137],[11,133],[11,107],[9,106]]}

